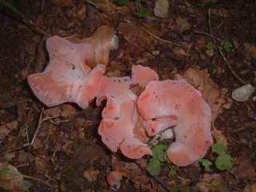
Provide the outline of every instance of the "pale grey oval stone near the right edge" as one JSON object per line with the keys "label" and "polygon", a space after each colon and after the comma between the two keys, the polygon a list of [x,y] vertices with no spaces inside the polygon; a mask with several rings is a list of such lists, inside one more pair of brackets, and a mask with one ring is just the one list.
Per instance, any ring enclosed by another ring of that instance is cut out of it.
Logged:
{"label": "pale grey oval stone near the right edge", "polygon": [[254,86],[251,86],[250,84],[240,86],[237,89],[233,90],[232,98],[238,102],[246,102],[254,93],[254,90],[256,90],[256,88]]}

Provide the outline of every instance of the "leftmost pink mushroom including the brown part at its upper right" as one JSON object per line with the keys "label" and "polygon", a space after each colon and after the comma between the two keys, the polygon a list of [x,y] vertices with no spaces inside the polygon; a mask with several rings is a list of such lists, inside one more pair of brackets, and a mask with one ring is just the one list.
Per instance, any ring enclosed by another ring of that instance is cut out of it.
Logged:
{"label": "leftmost pink mushroom including the brown part at its upper right", "polygon": [[[107,26],[100,27],[84,43],[75,44],[54,36],[46,41],[50,62],[42,73],[31,74],[27,80],[31,90],[46,106],[76,102],[86,108],[98,94],[115,36]],[[90,66],[95,66],[91,70]]]}

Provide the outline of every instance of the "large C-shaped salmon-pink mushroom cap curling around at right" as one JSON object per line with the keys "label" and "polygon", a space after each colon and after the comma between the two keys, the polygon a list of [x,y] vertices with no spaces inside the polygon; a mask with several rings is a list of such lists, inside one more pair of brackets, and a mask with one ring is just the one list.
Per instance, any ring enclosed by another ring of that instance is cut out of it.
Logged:
{"label": "large C-shaped salmon-pink mushroom cap curling around at right", "polygon": [[175,141],[166,153],[177,166],[202,158],[213,143],[210,107],[185,81],[149,82],[138,98],[138,112],[150,124],[147,132],[151,135],[174,126]]}

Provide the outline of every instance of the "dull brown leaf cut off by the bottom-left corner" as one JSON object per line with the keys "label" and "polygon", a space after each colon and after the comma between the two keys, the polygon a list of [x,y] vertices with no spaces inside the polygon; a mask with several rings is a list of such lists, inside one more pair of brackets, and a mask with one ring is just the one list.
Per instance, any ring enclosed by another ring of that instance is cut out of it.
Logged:
{"label": "dull brown leaf cut off by the bottom-left corner", "polygon": [[11,191],[28,191],[22,174],[7,162],[0,162],[0,187]]}

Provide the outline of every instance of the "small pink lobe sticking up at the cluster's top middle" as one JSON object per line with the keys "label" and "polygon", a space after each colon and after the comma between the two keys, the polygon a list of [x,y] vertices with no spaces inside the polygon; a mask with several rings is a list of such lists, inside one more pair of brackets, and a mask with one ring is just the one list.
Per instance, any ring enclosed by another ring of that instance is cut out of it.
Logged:
{"label": "small pink lobe sticking up at the cluster's top middle", "polygon": [[140,86],[146,86],[148,82],[159,79],[158,74],[154,70],[141,65],[132,66],[131,78],[134,84],[138,83]]}

